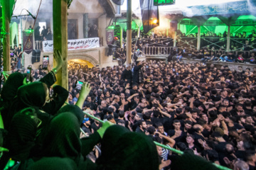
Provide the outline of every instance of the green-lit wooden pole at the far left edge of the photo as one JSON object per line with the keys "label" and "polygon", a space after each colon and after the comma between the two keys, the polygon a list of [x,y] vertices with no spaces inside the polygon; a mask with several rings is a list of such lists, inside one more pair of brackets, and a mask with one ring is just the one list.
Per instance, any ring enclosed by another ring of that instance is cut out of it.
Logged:
{"label": "green-lit wooden pole at the far left edge of the photo", "polygon": [[2,0],[2,17],[3,17],[3,56],[4,56],[4,72],[11,71],[11,58],[10,58],[10,1]]}

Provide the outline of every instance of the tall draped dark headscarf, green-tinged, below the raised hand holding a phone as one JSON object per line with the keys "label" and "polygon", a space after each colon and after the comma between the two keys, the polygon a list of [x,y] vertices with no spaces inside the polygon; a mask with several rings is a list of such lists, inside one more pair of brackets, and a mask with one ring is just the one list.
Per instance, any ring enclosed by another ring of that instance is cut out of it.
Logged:
{"label": "tall draped dark headscarf, green-tinged, below the raised hand holding a phone", "polygon": [[73,113],[57,115],[51,120],[46,138],[43,141],[43,157],[77,159],[81,151],[79,137],[80,124],[78,118]]}

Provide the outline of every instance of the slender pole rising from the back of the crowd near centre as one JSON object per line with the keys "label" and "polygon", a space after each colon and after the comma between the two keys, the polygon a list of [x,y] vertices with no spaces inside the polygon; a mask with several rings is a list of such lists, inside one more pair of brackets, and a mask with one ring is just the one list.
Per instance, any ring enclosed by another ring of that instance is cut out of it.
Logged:
{"label": "slender pole rising from the back of the crowd near centre", "polygon": [[132,0],[127,0],[127,65],[132,62]]}

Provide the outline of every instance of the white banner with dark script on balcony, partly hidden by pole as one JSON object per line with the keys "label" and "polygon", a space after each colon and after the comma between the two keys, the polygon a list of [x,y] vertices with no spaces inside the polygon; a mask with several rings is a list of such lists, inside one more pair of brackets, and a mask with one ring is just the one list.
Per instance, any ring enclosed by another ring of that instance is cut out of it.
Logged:
{"label": "white banner with dark script on balcony, partly hidden by pole", "polygon": [[[68,40],[68,50],[85,50],[100,47],[100,38]],[[53,40],[43,41],[43,52],[53,52]]]}

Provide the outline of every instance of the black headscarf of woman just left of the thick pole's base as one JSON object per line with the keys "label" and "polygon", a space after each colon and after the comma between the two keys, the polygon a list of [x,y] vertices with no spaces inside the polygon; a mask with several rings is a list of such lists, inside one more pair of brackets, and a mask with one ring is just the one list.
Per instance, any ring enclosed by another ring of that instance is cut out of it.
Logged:
{"label": "black headscarf of woman just left of the thick pole's base", "polygon": [[41,108],[46,103],[46,92],[43,83],[40,81],[23,85],[18,88],[18,101],[26,107]]}

